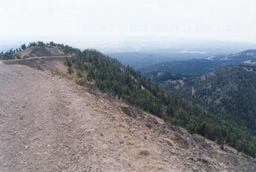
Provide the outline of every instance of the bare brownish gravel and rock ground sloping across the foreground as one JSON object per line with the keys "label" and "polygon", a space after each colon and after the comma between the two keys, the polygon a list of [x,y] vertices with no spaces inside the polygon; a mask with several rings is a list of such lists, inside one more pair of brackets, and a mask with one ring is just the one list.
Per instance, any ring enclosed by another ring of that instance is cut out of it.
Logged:
{"label": "bare brownish gravel and rock ground sloping across the foreground", "polygon": [[0,65],[0,171],[256,171],[255,159],[88,90]]}

